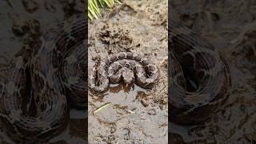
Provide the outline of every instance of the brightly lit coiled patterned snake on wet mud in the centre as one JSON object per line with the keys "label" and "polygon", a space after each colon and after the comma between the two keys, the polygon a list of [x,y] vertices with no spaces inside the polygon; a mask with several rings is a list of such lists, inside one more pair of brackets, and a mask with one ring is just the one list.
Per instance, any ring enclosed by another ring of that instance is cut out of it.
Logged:
{"label": "brightly lit coiled patterned snake on wet mud in the centre", "polygon": [[150,89],[158,82],[159,77],[158,66],[148,58],[136,53],[118,52],[103,59],[99,66],[92,67],[88,86],[93,92],[102,93],[108,90],[110,84],[123,81]]}

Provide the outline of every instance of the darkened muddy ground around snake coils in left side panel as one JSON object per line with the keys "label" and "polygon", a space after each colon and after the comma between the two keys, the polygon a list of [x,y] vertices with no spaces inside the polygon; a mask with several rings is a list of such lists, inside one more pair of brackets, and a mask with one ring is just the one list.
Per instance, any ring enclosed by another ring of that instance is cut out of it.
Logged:
{"label": "darkened muddy ground around snake coils in left side panel", "polygon": [[[8,73],[6,68],[15,54],[33,49],[31,46],[26,46],[26,39],[32,32],[44,35],[50,26],[56,25],[64,18],[82,13],[84,8],[84,1],[78,0],[0,1],[0,82],[6,79]],[[2,91],[1,86],[0,91]],[[46,143],[86,143],[86,131],[86,111],[72,109],[66,129]],[[2,122],[0,122],[0,143],[14,143],[6,135],[6,127]]]}

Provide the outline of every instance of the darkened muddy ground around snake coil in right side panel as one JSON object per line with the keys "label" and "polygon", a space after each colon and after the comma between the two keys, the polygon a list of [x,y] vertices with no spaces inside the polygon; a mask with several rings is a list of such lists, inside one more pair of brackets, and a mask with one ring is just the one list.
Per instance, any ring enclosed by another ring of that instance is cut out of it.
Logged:
{"label": "darkened muddy ground around snake coil in right side panel", "polygon": [[171,20],[216,46],[230,67],[232,88],[223,109],[204,126],[170,124],[170,143],[256,142],[256,2],[170,1]]}

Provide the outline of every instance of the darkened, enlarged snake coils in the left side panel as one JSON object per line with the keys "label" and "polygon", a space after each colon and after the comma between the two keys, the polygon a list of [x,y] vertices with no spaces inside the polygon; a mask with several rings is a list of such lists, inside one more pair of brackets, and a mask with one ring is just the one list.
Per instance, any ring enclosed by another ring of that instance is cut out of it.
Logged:
{"label": "darkened, enlarged snake coils in the left side panel", "polygon": [[31,54],[17,54],[0,95],[7,133],[19,142],[42,142],[60,134],[69,107],[87,98],[86,14],[58,22],[35,41]]}

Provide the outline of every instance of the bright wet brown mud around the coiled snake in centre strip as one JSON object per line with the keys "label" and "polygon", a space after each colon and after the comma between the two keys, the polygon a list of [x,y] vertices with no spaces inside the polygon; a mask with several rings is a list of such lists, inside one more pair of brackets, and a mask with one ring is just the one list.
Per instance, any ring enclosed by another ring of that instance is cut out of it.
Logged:
{"label": "bright wet brown mud around the coiled snake in centre strip", "polygon": [[167,1],[125,1],[106,11],[90,22],[89,45],[89,67],[130,51],[150,58],[161,72],[152,90],[118,84],[105,94],[90,93],[89,142],[167,143]]}

